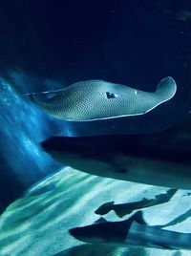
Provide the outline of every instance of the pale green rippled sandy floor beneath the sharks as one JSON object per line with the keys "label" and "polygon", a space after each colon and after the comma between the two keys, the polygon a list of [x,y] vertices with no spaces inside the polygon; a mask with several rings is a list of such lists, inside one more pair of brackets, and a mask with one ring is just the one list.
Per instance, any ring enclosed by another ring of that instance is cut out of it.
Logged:
{"label": "pale green rippled sandy floor beneath the sharks", "polygon": [[[0,255],[189,256],[190,251],[185,250],[85,245],[68,232],[74,226],[96,222],[99,216],[95,210],[102,203],[129,203],[143,197],[154,198],[166,190],[157,186],[95,177],[67,167],[33,186],[0,216]],[[148,224],[166,224],[181,216],[178,224],[167,229],[190,232],[190,203],[189,191],[179,190],[169,203],[145,208],[143,216]],[[129,216],[120,219],[111,211],[104,218],[120,221]]]}

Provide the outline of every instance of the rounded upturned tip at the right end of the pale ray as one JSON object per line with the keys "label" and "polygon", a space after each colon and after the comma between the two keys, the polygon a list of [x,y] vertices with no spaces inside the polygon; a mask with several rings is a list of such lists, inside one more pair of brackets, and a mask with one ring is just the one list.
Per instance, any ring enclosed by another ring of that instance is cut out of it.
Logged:
{"label": "rounded upturned tip at the right end of the pale ray", "polygon": [[171,76],[167,76],[160,80],[156,90],[156,94],[161,101],[167,101],[177,92],[177,84]]}

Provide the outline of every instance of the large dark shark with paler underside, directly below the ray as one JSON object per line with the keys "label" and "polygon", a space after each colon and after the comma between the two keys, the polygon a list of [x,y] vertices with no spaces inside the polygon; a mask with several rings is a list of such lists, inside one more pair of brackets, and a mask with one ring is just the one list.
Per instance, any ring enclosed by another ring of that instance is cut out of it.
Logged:
{"label": "large dark shark with paler underside, directly below the ray", "polygon": [[55,137],[42,145],[55,160],[96,176],[191,189],[191,137],[180,127],[142,136]]}

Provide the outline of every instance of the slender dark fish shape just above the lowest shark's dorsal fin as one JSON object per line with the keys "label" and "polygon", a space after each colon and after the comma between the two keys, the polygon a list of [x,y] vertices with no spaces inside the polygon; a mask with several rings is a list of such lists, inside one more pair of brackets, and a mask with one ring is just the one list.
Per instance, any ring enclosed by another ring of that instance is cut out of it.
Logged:
{"label": "slender dark fish shape just above the lowest shark's dorsal fin", "polygon": [[132,213],[134,210],[154,206],[160,203],[167,203],[176,192],[177,189],[169,189],[165,194],[157,195],[155,199],[144,198],[141,201],[133,203],[103,203],[100,207],[96,209],[95,213],[99,215],[104,215],[114,210],[117,216],[122,218],[123,216]]}

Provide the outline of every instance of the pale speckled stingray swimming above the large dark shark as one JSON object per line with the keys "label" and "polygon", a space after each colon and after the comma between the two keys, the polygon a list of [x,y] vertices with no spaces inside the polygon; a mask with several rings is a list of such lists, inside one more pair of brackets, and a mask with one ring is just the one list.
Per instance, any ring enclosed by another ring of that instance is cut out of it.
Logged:
{"label": "pale speckled stingray swimming above the large dark shark", "polygon": [[32,99],[48,114],[78,121],[144,115],[176,93],[172,77],[162,79],[155,93],[103,80],[72,84],[47,100]]}

